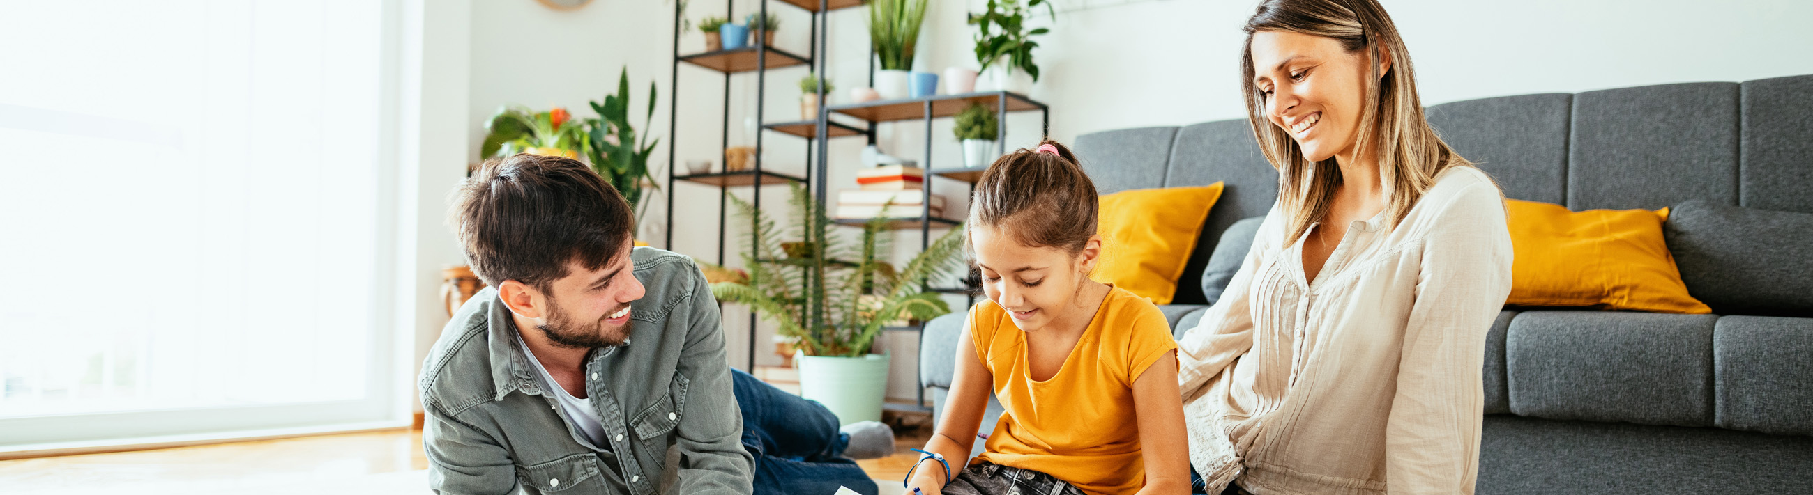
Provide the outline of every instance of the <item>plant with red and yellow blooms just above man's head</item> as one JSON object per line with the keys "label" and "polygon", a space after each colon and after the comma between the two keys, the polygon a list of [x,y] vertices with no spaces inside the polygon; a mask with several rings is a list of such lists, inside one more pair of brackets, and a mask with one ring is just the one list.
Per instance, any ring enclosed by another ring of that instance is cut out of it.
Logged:
{"label": "plant with red and yellow blooms just above man's head", "polygon": [[589,152],[586,127],[573,121],[566,109],[535,112],[522,105],[504,105],[484,121],[484,143],[479,156],[500,158],[519,152],[578,158]]}

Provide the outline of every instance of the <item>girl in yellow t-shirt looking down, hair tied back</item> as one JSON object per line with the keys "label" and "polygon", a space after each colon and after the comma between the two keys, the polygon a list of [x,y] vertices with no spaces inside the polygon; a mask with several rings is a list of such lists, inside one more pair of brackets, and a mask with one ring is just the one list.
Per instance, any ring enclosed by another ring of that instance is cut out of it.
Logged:
{"label": "girl in yellow t-shirt looking down, hair tied back", "polygon": [[[988,299],[970,308],[906,493],[1189,491],[1177,343],[1149,301],[1088,277],[1095,209],[1095,185],[1055,141],[975,183],[968,241]],[[968,459],[990,392],[1006,412]]]}

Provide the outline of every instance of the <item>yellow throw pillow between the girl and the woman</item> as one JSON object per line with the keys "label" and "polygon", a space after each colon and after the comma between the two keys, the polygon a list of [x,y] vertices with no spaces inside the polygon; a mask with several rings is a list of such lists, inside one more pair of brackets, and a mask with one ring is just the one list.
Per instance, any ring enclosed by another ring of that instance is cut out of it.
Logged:
{"label": "yellow throw pillow between the girl and the woman", "polygon": [[1202,236],[1202,221],[1220,198],[1222,183],[1102,196],[1097,223],[1102,257],[1093,277],[1153,305],[1169,305],[1177,296],[1177,277],[1184,276],[1184,263]]}

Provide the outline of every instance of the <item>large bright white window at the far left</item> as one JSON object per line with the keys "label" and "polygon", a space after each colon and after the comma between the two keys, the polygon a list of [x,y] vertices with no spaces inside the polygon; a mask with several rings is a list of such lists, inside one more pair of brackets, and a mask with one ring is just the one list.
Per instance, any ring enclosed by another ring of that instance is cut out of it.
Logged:
{"label": "large bright white window at the far left", "polygon": [[386,4],[0,5],[0,446],[377,419]]}

